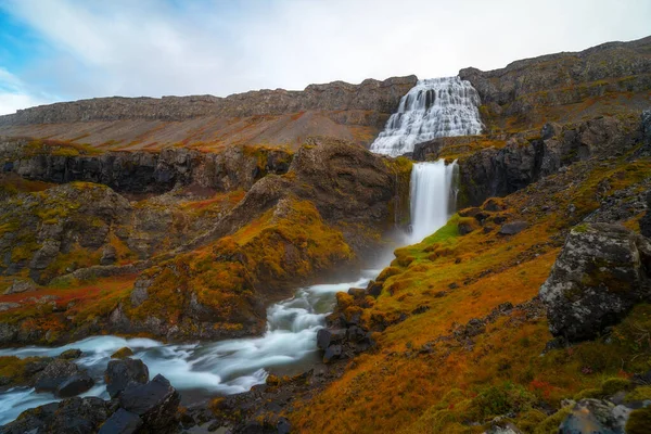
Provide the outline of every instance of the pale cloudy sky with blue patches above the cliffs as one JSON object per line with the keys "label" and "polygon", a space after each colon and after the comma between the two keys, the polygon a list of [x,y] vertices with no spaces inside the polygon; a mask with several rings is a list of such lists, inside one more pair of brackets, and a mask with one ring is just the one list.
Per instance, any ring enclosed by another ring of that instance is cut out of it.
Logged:
{"label": "pale cloudy sky with blue patches above the cliffs", "polygon": [[452,76],[651,35],[651,0],[0,0],[0,114]]}

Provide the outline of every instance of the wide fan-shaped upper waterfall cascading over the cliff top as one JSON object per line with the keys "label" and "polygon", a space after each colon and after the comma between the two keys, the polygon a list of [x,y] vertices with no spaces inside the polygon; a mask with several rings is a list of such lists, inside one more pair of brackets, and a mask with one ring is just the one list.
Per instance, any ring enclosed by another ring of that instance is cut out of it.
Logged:
{"label": "wide fan-shaped upper waterfall cascading over the cliff top", "polygon": [[480,104],[475,88],[458,76],[419,80],[370,149],[398,156],[437,137],[478,135],[483,128]]}

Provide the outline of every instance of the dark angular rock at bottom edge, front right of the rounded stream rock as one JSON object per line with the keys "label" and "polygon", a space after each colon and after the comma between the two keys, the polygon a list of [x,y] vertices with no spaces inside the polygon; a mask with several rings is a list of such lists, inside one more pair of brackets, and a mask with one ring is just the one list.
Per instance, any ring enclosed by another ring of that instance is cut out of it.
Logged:
{"label": "dark angular rock at bottom edge, front right of the rounded stream rock", "polygon": [[161,374],[146,384],[129,383],[119,395],[120,407],[138,414],[150,431],[174,427],[179,403],[179,394]]}

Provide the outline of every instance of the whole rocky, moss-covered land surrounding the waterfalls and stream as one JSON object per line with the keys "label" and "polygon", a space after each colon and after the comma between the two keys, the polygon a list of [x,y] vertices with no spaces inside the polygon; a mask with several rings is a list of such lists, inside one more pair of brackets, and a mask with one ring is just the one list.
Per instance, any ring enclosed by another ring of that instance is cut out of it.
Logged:
{"label": "whole rocky, moss-covered land surrounding the waterfalls and stream", "polygon": [[[3,347],[260,336],[296,288],[400,244],[414,164],[458,167],[447,224],[336,293],[298,374],[179,407],[112,361],[161,399],[67,398],[0,432],[158,414],[169,432],[648,433],[651,37],[459,76],[482,132],[395,158],[368,149],[414,76],[0,117]],[[0,394],[55,370],[55,391],[113,381],[58,357],[0,357]]]}

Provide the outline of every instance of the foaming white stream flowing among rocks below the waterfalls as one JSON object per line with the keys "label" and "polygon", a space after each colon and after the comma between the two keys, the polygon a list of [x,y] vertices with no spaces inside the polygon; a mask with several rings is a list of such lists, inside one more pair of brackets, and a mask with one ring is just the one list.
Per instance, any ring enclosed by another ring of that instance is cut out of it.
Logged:
{"label": "foaming white stream flowing among rocks below the waterfalls", "polygon": [[[80,396],[108,399],[103,373],[111,355],[122,347],[133,350],[149,367],[150,376],[161,373],[181,393],[184,404],[215,395],[246,392],[265,383],[269,371],[278,374],[302,372],[320,360],[317,332],[335,303],[335,294],[350,288],[366,288],[380,270],[362,270],[350,282],[301,288],[292,298],[267,309],[267,332],[260,337],[237,339],[214,343],[164,344],[149,339],[94,336],[59,347],[27,346],[0,349],[0,356],[56,357],[71,348],[82,356],[75,362],[95,380],[95,385]],[[14,387],[0,394],[0,425],[14,420],[22,411],[59,400],[50,393],[30,387]]]}

